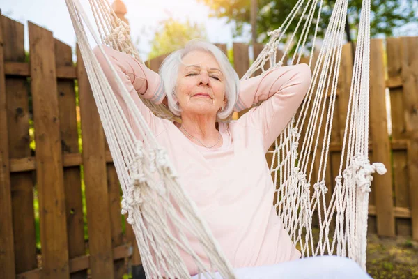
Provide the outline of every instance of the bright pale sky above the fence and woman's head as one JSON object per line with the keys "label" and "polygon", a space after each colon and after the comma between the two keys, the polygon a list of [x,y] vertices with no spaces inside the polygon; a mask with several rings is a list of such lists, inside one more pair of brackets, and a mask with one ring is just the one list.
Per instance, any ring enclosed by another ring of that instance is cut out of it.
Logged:
{"label": "bright pale sky above the fence and woman's head", "polygon": [[[79,0],[86,12],[90,12],[88,0]],[[108,0],[113,3],[114,0]],[[131,36],[143,59],[150,52],[150,41],[153,39],[158,22],[173,17],[176,20],[190,20],[206,27],[208,40],[212,43],[247,42],[248,36],[233,38],[232,24],[225,19],[209,17],[210,10],[196,0],[123,0],[127,7],[125,17],[130,22]],[[29,48],[27,34],[28,20],[52,31],[54,37],[63,43],[75,46],[75,32],[72,29],[70,15],[65,0],[0,0],[3,15],[25,25],[26,49]],[[91,17],[93,23],[93,17]]]}

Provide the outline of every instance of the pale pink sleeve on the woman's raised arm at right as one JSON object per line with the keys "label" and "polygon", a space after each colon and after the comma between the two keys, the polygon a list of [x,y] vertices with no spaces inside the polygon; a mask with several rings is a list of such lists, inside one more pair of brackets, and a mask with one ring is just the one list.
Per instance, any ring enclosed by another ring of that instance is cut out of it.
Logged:
{"label": "pale pink sleeve on the woman's raised arm at right", "polygon": [[310,83],[311,69],[307,64],[275,68],[263,76],[242,81],[235,111],[263,103],[249,110],[238,122],[261,130],[267,151],[292,119]]}

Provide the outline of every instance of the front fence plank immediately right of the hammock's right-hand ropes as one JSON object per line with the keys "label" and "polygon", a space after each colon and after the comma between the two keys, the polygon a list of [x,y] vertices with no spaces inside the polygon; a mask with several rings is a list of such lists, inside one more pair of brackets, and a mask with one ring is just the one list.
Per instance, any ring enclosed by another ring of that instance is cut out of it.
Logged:
{"label": "front fence plank immediately right of the hammock's right-hand ropes", "polygon": [[370,132],[373,161],[381,162],[387,168],[385,175],[376,174],[373,176],[378,234],[381,236],[395,236],[392,167],[385,99],[385,64],[383,62],[383,40],[381,39],[371,40]]}

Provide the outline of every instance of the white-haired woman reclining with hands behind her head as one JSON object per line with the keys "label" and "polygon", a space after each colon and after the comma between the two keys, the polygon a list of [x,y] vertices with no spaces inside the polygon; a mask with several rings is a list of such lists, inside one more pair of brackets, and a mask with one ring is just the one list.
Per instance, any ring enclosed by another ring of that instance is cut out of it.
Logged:
{"label": "white-haired woman reclining with hands behind her head", "polygon": [[[332,276],[336,266],[345,266],[339,278],[364,276],[357,264],[341,258],[302,259],[288,268],[279,264],[299,259],[301,254],[274,209],[274,185],[265,153],[302,102],[311,79],[309,66],[284,66],[240,82],[218,47],[193,40],[168,56],[158,75],[131,56],[103,47],[240,276],[304,278],[307,266],[311,266],[309,278],[332,278],[326,276]],[[109,66],[97,47],[94,51],[130,119]],[[139,96],[168,104],[181,123],[158,118]],[[237,121],[220,121],[260,101],[261,105]],[[208,264],[199,242],[190,238],[189,243]],[[195,275],[192,257],[183,251],[182,256],[189,273]],[[246,269],[254,266],[263,267]],[[315,277],[319,274],[315,266],[320,267],[320,277]]]}

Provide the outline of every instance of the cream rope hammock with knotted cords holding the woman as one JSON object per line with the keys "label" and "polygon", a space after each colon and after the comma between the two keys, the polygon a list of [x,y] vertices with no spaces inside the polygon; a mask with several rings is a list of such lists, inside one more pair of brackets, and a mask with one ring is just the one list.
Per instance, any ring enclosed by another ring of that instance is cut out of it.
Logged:
{"label": "cream rope hammock with knotted cords holding the woman", "polygon": [[[180,257],[181,249],[193,257],[199,273],[204,273],[203,276],[212,278],[214,271],[219,271],[224,278],[235,278],[231,264],[223,255],[208,225],[178,182],[166,152],[157,144],[114,67],[106,58],[144,141],[135,137],[88,43],[85,28],[91,32],[99,46],[107,43],[115,50],[132,54],[141,61],[130,40],[129,26],[116,17],[106,0],[89,0],[99,37],[79,0],[65,1],[123,190],[122,213],[128,214],[127,222],[134,229],[147,277],[189,278]],[[330,152],[347,6],[347,0],[336,0],[307,96],[300,111],[276,140],[274,150],[268,152],[272,158],[269,162],[270,171],[274,174],[274,185],[277,186],[274,206],[302,256],[334,254],[350,257],[365,269],[369,192],[373,180],[371,174],[386,172],[384,165],[371,164],[368,160],[370,0],[362,3],[339,174],[335,177],[332,197],[325,199],[330,188],[325,185],[325,170]],[[261,70],[263,75],[267,70],[281,66],[291,47],[296,50],[291,63],[300,63],[302,54],[309,50],[309,30],[314,29],[309,58],[311,66],[322,8],[323,0],[297,1],[283,26],[269,33],[269,42],[242,79],[251,77],[257,70]],[[290,39],[283,56],[277,57],[278,46],[295,17],[299,18],[297,27],[287,37]],[[297,32],[300,32],[300,36],[296,41]],[[101,46],[100,50],[104,54]],[[148,100],[142,101],[157,116],[167,119],[173,117],[164,105],[156,106]],[[322,127],[324,117],[325,127]],[[300,133],[302,129],[303,135]],[[320,154],[317,154],[319,150]],[[320,164],[314,181],[314,160],[318,156]],[[318,233],[312,227],[314,216],[318,218]],[[330,232],[333,218],[334,229]],[[169,229],[169,223],[176,229],[176,236]],[[192,233],[199,240],[210,266],[203,264],[196,252],[189,248],[185,232]]]}

